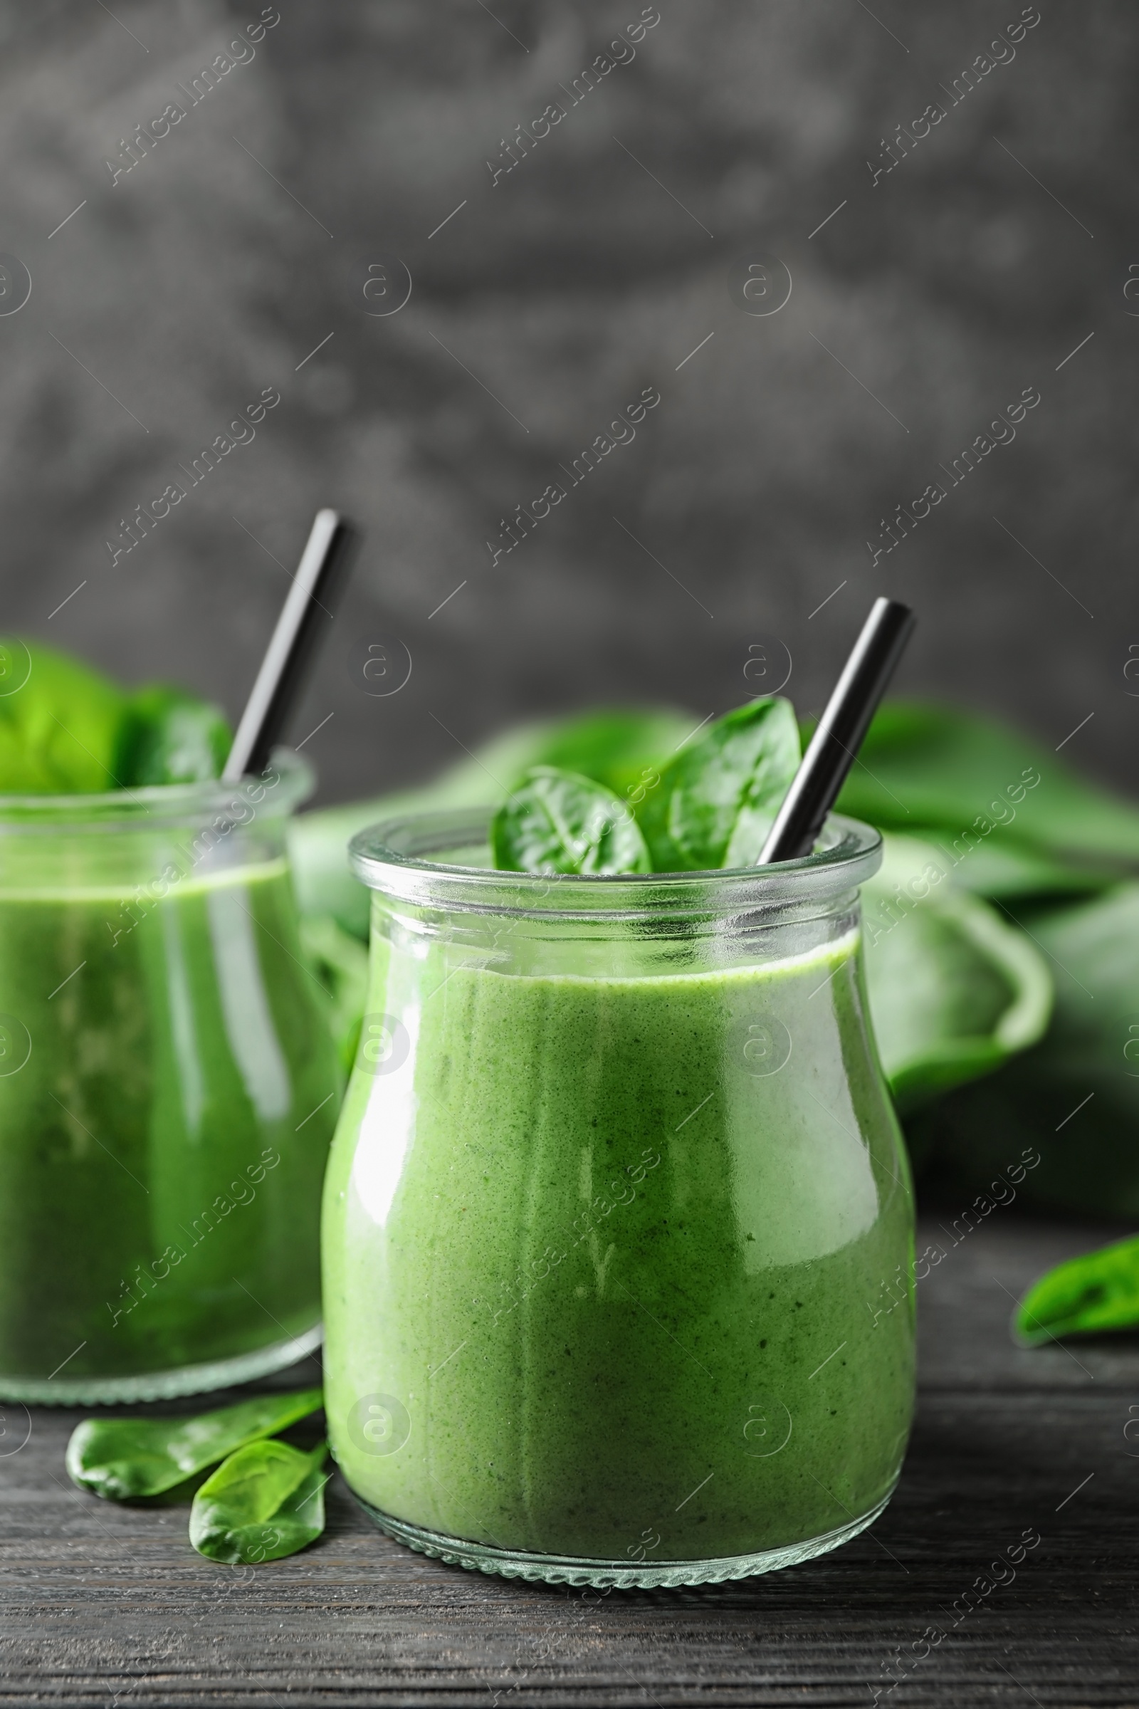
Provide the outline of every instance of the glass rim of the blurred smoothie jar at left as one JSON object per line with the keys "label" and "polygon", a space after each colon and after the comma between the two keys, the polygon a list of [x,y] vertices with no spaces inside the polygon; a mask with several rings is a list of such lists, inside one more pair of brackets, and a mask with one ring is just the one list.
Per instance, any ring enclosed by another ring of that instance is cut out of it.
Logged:
{"label": "glass rim of the blurred smoothie jar at left", "polygon": [[[266,783],[277,772],[277,783]],[[200,824],[239,805],[256,805],[278,817],[299,807],[316,786],[307,759],[292,749],[273,749],[260,776],[239,783],[207,778],[202,783],[154,783],[89,795],[0,795],[0,836],[72,831],[157,831]],[[253,790],[261,790],[254,803]]]}

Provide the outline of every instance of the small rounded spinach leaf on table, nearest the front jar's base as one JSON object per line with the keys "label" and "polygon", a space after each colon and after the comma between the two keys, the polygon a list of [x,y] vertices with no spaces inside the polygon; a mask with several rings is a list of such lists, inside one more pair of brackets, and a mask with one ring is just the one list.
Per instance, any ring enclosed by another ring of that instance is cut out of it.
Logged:
{"label": "small rounded spinach leaf on table, nearest the front jar's base", "polygon": [[190,1509],[190,1542],[210,1560],[295,1555],[324,1530],[324,1456],[289,1442],[251,1442],[205,1480]]}

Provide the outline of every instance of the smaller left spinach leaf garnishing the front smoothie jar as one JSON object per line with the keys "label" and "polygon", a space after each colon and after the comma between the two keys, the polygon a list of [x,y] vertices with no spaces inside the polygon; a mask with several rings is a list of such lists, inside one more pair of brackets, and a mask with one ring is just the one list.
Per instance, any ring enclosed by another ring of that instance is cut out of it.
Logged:
{"label": "smaller left spinach leaf garnishing the front smoothie jar", "polygon": [[534,766],[494,817],[490,851],[500,872],[651,872],[628,807],[572,771]]}

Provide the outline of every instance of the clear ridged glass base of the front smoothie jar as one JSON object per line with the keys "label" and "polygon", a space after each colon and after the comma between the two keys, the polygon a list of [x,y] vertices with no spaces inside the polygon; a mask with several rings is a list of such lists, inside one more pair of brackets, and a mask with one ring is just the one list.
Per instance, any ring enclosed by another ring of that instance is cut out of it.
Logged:
{"label": "clear ridged glass base of the front smoothie jar", "polygon": [[765,1548],[755,1555],[724,1555],[719,1560],[657,1560],[654,1565],[647,1562],[625,1565],[620,1560],[586,1560],[574,1555],[538,1555],[524,1550],[492,1548],[490,1543],[471,1543],[461,1536],[423,1531],[418,1524],[393,1519],[391,1514],[369,1506],[360,1495],[355,1499],[369,1519],[396,1543],[405,1543],[420,1555],[434,1555],[435,1560],[446,1560],[449,1565],[466,1567],[468,1572],[497,1572],[504,1579],[529,1579],[533,1584],[591,1584],[596,1589],[647,1591],[680,1589],[688,1584],[722,1584],[726,1579],[751,1579],[760,1572],[779,1572],[780,1567],[796,1567],[801,1560],[827,1555],[832,1548],[849,1543],[859,1531],[866,1531],[885,1512],[895,1485],[897,1478],[876,1507],[837,1531],[825,1531],[821,1536],[809,1536],[801,1543],[789,1543],[786,1548]]}

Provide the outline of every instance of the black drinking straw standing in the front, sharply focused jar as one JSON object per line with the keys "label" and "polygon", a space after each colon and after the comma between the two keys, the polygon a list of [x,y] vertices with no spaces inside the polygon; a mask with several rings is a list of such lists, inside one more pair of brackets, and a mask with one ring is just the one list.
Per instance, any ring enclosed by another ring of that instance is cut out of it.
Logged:
{"label": "black drinking straw standing in the front, sharply focused jar", "polygon": [[784,805],[763,844],[760,866],[777,860],[799,860],[815,848],[815,837],[838,798],[869,721],[914,632],[914,622],[908,605],[874,600],[803,764],[784,796]]}

